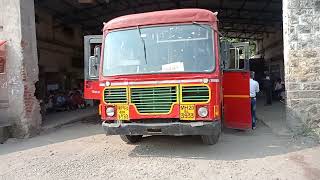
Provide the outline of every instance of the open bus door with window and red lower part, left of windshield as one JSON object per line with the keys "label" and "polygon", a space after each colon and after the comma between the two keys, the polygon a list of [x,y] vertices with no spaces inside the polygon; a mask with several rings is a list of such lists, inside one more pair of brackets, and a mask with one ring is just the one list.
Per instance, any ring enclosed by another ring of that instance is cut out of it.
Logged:
{"label": "open bus door with window and red lower part, left of windshield", "polygon": [[84,98],[100,100],[99,66],[102,35],[84,36]]}

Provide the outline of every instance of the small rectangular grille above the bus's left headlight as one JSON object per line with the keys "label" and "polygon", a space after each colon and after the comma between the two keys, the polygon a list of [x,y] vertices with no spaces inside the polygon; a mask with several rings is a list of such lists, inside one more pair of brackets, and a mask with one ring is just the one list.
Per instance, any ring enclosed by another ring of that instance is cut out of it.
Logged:
{"label": "small rectangular grille above the bus's left headlight", "polygon": [[126,88],[105,89],[104,101],[106,103],[127,103],[127,89]]}

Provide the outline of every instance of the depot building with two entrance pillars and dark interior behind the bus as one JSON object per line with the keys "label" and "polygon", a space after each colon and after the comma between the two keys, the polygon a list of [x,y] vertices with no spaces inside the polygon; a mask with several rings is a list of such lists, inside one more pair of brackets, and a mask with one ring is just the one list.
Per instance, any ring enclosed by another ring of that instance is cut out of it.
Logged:
{"label": "depot building with two entrance pillars and dark interior behind the bus", "polygon": [[319,128],[320,0],[1,0],[0,7],[0,119],[13,137],[39,132],[51,92],[83,88],[84,36],[101,35],[115,17],[181,8],[217,12],[223,37],[250,43],[256,78],[268,72],[284,82],[288,127]]}

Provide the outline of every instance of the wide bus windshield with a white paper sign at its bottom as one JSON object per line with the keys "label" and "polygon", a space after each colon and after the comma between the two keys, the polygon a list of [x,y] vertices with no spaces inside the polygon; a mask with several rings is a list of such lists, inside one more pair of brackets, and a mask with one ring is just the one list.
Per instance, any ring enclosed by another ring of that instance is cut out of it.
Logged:
{"label": "wide bus windshield with a white paper sign at its bottom", "polygon": [[188,24],[112,31],[105,38],[103,75],[212,72],[213,30]]}

